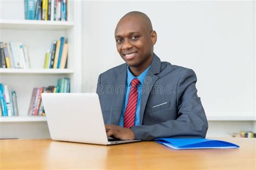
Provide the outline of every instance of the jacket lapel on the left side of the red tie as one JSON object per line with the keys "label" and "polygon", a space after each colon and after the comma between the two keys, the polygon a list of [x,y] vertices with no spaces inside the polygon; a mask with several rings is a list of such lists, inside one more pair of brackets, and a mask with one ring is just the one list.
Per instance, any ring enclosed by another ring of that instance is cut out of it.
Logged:
{"label": "jacket lapel on the left side of the red tie", "polygon": [[124,102],[124,94],[125,94],[125,83],[127,76],[127,65],[124,65],[120,70],[120,75],[117,77],[116,87],[113,88],[113,100],[111,106],[111,114],[110,114],[110,124],[118,125],[123,102]]}

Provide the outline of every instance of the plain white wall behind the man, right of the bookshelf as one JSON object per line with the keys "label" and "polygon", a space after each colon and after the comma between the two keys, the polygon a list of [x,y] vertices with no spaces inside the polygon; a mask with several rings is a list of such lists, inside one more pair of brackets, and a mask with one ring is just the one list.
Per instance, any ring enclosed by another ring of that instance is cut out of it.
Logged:
{"label": "plain white wall behind the man, right of the bookshelf", "polygon": [[255,116],[253,1],[84,2],[82,91],[95,91],[98,75],[124,62],[114,29],[134,10],[151,18],[160,59],[196,72],[207,116]]}

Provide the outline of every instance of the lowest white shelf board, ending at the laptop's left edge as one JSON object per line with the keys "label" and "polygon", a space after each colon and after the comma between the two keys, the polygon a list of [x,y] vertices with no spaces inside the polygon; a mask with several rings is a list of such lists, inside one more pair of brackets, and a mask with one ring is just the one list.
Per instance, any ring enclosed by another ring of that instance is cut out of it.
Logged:
{"label": "lowest white shelf board, ending at the laptop's left edge", "polygon": [[45,116],[6,116],[0,117],[0,122],[46,122]]}

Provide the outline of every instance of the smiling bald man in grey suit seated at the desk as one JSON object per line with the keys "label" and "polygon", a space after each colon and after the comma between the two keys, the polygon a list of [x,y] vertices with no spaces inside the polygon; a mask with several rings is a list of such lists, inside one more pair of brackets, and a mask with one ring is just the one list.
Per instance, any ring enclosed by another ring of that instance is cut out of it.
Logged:
{"label": "smiling bald man in grey suit seated at the desk", "polygon": [[144,13],[129,12],[114,32],[126,62],[99,75],[97,94],[108,137],[153,140],[204,138],[207,119],[192,69],[161,62],[157,33]]}

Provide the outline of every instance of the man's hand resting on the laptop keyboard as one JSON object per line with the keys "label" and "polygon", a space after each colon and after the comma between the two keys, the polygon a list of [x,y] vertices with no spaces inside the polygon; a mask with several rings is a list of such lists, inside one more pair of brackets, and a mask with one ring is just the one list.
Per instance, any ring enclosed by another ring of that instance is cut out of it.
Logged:
{"label": "man's hand resting on the laptop keyboard", "polygon": [[135,138],[132,129],[129,128],[122,128],[117,125],[105,125],[105,129],[107,137],[113,136],[122,140],[132,140]]}

